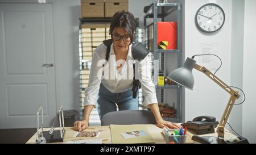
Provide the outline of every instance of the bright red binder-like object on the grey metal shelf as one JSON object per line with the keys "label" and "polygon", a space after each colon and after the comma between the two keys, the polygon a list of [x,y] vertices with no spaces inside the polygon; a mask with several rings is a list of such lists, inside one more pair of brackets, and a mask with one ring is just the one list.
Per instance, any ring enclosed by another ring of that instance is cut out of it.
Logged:
{"label": "bright red binder-like object on the grey metal shelf", "polygon": [[158,39],[160,41],[168,41],[167,49],[177,49],[177,22],[158,22]]}

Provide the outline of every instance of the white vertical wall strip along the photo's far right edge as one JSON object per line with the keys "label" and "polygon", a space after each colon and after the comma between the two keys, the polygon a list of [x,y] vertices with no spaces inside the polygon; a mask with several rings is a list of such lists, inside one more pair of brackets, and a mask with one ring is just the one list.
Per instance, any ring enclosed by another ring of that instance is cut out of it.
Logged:
{"label": "white vertical wall strip along the photo's far right edge", "polygon": [[243,90],[246,93],[246,102],[242,106],[242,135],[250,143],[256,143],[256,104],[255,104],[255,87],[256,87],[256,44],[255,44],[255,16],[256,1],[245,0],[245,34],[243,48]]}

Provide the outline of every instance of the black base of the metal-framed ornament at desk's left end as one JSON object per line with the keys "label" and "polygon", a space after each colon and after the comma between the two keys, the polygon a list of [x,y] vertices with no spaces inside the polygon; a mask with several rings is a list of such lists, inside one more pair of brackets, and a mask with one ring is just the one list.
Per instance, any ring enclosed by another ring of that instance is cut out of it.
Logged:
{"label": "black base of the metal-framed ornament at desk's left end", "polygon": [[[64,132],[65,130],[63,131],[63,136],[64,136]],[[63,142],[63,137],[61,138],[60,130],[53,131],[52,135],[49,134],[49,131],[43,131],[43,137],[46,139],[46,143]]]}

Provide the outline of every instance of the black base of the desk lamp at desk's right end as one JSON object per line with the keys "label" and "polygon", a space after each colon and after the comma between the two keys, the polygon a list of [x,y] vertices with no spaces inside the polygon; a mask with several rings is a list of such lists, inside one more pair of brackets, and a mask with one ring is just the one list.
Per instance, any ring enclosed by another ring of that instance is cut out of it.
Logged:
{"label": "black base of the desk lamp at desk's right end", "polygon": [[219,139],[212,136],[192,136],[193,141],[197,141],[202,144],[249,144],[249,141],[245,137],[236,137],[232,140]]}

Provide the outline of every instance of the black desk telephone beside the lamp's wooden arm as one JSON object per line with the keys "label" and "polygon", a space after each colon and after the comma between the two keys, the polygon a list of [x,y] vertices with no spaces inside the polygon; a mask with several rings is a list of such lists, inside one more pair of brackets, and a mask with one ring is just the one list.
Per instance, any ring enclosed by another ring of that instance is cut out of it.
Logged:
{"label": "black desk telephone beside the lamp's wooden arm", "polygon": [[183,123],[181,125],[195,131],[197,135],[202,135],[205,133],[213,133],[214,128],[216,128],[218,125],[218,122],[213,116],[198,116],[192,121],[188,121],[187,123]]}

